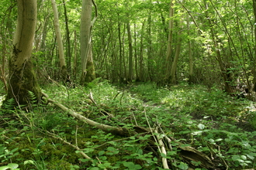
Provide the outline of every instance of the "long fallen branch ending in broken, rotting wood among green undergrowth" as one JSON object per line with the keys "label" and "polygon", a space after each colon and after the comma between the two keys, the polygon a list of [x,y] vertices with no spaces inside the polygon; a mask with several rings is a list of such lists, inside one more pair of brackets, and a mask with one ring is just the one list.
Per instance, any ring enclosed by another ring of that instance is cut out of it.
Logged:
{"label": "long fallen branch ending in broken, rotting wood among green undergrowth", "polygon": [[[102,131],[106,131],[112,134],[117,134],[119,136],[133,136],[133,135],[142,135],[142,134],[152,134],[152,138],[149,139],[148,143],[149,143],[149,149],[151,149],[153,151],[153,153],[157,153],[157,151],[159,151],[160,153],[167,155],[167,151],[171,151],[171,141],[175,141],[180,149],[180,151],[178,151],[178,154],[182,157],[183,161],[188,163],[190,165],[190,167],[195,168],[195,165],[192,164],[193,162],[201,162],[199,164],[199,166],[197,166],[197,168],[206,168],[206,169],[214,169],[214,165],[212,160],[204,153],[202,153],[201,151],[196,150],[195,148],[189,147],[189,146],[184,146],[184,144],[178,142],[175,140],[175,138],[170,138],[167,137],[164,134],[158,134],[156,129],[152,129],[152,128],[144,128],[144,127],[140,127],[140,126],[133,126],[133,129],[127,129],[127,128],[116,128],[116,127],[112,127],[109,126],[107,124],[101,124],[95,121],[92,121],[84,116],[82,116],[81,114],[77,114],[74,111],[72,111],[71,109],[68,109],[67,107],[64,107],[64,105],[57,103],[54,100],[51,100],[48,98],[46,93],[43,93],[43,95],[45,97],[47,97],[47,100],[49,103],[55,104],[57,107],[60,107],[61,110],[67,111],[68,114],[71,114],[72,116],[76,117],[78,120],[80,121],[84,121],[85,123],[95,127],[95,128],[99,128]],[[158,127],[160,128],[160,127]],[[156,135],[157,134],[157,135]],[[161,137],[163,136],[163,137]],[[155,142],[157,143],[157,145],[155,144]],[[159,154],[157,154],[159,155]],[[162,157],[162,164],[163,167],[168,169],[169,166],[171,166],[171,161],[168,160],[167,158]]]}

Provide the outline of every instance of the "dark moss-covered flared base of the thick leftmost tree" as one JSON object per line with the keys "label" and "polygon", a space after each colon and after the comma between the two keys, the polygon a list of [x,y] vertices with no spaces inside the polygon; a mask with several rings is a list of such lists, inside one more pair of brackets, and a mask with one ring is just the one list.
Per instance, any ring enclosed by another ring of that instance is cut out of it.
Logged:
{"label": "dark moss-covered flared base of the thick leftmost tree", "polygon": [[[5,101],[14,98],[16,104],[27,105],[39,101],[42,94],[33,72],[31,61],[26,61],[18,67],[13,62],[9,62],[9,84]],[[31,93],[33,93],[33,98]]]}

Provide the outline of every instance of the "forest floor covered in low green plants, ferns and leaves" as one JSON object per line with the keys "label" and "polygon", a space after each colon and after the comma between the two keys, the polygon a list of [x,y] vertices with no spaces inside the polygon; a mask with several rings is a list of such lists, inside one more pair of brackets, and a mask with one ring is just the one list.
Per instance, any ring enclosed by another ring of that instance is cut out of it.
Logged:
{"label": "forest floor covered in low green plants, ferns and leaves", "polygon": [[86,88],[52,83],[42,89],[100,124],[131,131],[134,126],[158,128],[161,132],[152,134],[175,141],[166,155],[157,155],[147,148],[152,134],[121,137],[79,121],[54,104],[34,104],[27,112],[13,110],[10,100],[0,110],[0,169],[164,169],[162,158],[168,159],[170,169],[206,169],[202,162],[185,162],[177,142],[207,155],[212,169],[256,167],[255,103],[234,99],[216,87],[116,87],[103,81]]}

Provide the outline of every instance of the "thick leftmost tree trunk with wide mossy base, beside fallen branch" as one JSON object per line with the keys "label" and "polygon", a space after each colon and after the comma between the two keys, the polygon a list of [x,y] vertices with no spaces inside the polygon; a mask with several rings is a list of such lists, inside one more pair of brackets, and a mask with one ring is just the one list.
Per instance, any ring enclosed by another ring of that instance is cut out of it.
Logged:
{"label": "thick leftmost tree trunk with wide mossy base, beside fallen branch", "polygon": [[6,100],[14,98],[16,104],[29,104],[33,92],[36,100],[40,100],[41,90],[37,83],[31,53],[36,32],[37,2],[36,0],[19,0],[18,22],[13,39],[12,56],[9,59],[9,80]]}

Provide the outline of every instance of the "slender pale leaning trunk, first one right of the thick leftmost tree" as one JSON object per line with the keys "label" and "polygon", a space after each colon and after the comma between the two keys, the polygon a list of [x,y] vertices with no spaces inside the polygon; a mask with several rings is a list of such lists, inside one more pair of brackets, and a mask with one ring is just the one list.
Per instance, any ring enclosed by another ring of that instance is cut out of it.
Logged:
{"label": "slender pale leaning trunk, first one right of the thick leftmost tree", "polygon": [[61,28],[59,23],[59,17],[57,13],[57,5],[55,0],[51,0],[51,5],[54,10],[54,27],[55,27],[55,33],[57,36],[57,45],[59,49],[59,57],[60,57],[60,65],[61,65],[61,79],[66,80],[67,79],[67,66],[66,61],[64,57],[64,49],[63,49],[63,42],[61,38]]}

